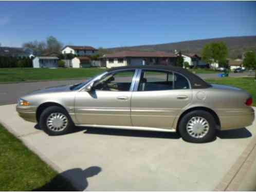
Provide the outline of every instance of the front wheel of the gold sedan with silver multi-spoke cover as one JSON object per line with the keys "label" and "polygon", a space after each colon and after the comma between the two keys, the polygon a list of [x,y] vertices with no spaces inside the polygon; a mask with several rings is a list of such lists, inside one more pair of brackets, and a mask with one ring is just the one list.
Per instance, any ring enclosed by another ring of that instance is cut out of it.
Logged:
{"label": "front wheel of the gold sedan with silver multi-spoke cover", "polygon": [[40,116],[39,125],[48,135],[64,135],[72,131],[74,123],[65,109],[49,106]]}

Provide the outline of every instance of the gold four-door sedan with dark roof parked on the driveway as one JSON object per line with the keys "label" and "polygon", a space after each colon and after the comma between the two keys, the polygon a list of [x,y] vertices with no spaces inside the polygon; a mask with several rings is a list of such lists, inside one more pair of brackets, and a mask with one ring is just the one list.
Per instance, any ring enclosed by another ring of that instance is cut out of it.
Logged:
{"label": "gold four-door sedan with dark roof parked on the driveway", "polygon": [[34,91],[17,103],[27,121],[49,135],[76,126],[178,132],[190,142],[207,142],[217,130],[249,126],[251,95],[209,84],[171,66],[112,68],[85,82]]}

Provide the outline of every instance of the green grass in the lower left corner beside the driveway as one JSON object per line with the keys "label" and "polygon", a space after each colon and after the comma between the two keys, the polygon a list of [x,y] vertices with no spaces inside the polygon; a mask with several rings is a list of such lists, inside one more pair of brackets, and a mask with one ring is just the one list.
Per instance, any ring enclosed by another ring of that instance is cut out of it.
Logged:
{"label": "green grass in the lower left corner beside the driveway", "polygon": [[0,191],[76,190],[0,124]]}

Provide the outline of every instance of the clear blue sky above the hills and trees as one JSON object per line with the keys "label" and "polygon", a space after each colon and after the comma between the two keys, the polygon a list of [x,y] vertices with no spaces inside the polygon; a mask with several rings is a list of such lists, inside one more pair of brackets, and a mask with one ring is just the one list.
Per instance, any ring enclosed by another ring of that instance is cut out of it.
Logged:
{"label": "clear blue sky above the hills and trees", "polygon": [[256,35],[256,2],[0,2],[0,43],[111,48]]}

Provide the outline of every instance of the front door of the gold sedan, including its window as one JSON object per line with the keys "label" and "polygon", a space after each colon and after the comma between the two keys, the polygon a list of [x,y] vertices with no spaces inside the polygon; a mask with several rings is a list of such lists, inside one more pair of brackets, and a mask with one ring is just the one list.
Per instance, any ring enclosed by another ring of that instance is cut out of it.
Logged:
{"label": "front door of the gold sedan, including its window", "polygon": [[75,98],[79,124],[132,126],[130,105],[135,70],[118,70],[94,82],[90,92],[80,91]]}

